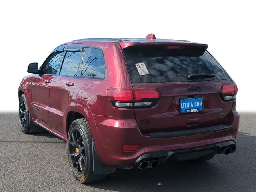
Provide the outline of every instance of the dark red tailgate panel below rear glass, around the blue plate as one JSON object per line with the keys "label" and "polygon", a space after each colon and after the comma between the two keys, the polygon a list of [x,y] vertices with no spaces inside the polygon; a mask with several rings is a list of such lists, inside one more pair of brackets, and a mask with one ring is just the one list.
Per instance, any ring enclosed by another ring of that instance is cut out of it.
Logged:
{"label": "dark red tailgate panel below rear glass, around the blue plate", "polygon": [[[162,97],[152,108],[135,108],[136,121],[143,132],[166,132],[186,130],[225,124],[230,116],[233,101],[223,102],[220,96],[222,84],[232,83],[228,80],[214,80],[204,82],[174,82],[174,83],[134,83],[134,88],[157,88]],[[204,111],[202,113],[180,114],[180,98],[192,95],[186,88],[200,85],[202,91],[194,92],[193,97],[202,97]],[[219,116],[220,113],[226,113]],[[191,120],[194,120],[192,124]],[[195,121],[195,119],[197,121]],[[149,120],[150,124],[146,124]],[[161,126],[159,126],[161,122]]]}

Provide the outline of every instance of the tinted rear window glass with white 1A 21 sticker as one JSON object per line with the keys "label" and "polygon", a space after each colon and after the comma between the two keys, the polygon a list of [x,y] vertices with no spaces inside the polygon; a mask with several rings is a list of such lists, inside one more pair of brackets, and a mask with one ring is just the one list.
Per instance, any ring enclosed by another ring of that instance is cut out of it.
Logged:
{"label": "tinted rear window glass with white 1A 21 sticker", "polygon": [[[133,83],[187,82],[229,79],[228,74],[204,48],[131,46],[123,50]],[[188,79],[190,74],[215,74],[215,77]]]}

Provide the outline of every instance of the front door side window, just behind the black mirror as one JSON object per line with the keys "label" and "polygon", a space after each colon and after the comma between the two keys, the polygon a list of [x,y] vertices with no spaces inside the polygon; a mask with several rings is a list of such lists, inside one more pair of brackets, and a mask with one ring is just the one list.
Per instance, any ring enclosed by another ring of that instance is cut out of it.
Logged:
{"label": "front door side window, just behind the black mirror", "polygon": [[43,67],[44,74],[58,74],[64,52],[54,52]]}

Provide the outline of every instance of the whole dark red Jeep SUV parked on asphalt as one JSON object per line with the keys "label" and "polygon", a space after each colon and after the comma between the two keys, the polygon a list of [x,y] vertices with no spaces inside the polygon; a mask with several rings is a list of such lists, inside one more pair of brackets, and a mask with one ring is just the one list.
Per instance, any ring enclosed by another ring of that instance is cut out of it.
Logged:
{"label": "whole dark red Jeep SUV parked on asphalt", "polygon": [[58,46],[20,83],[22,132],[66,140],[81,183],[116,168],[209,160],[236,151],[237,86],[207,44],[94,38]]}

